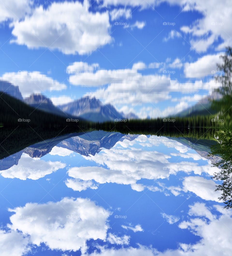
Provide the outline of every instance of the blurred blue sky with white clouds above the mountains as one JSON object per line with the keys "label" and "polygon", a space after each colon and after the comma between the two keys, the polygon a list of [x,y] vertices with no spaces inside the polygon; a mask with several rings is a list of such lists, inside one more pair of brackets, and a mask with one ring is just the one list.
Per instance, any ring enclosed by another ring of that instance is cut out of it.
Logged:
{"label": "blurred blue sky with white clouds above the mountains", "polygon": [[219,86],[232,41],[230,1],[15,3],[0,4],[0,77],[54,104],[91,95],[141,118],[176,114]]}

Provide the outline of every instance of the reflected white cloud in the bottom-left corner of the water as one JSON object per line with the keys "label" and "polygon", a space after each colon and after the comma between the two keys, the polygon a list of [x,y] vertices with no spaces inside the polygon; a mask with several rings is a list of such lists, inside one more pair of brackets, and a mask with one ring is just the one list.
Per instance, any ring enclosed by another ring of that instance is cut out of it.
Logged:
{"label": "reflected white cloud in the bottom-left corner of the water", "polygon": [[0,229],[1,256],[22,256],[30,251],[29,238],[18,231],[6,232]]}

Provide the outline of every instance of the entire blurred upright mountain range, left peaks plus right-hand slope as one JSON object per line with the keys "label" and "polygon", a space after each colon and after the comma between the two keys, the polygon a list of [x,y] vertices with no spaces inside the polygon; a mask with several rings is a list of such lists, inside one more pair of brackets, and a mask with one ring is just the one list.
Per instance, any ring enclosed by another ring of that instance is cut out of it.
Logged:
{"label": "entire blurred upright mountain range, left peaks plus right-hand slope", "polygon": [[[19,87],[14,86],[7,81],[0,80],[0,91],[24,101],[34,108],[63,117],[79,117],[93,122],[112,121],[114,119],[138,119],[136,114],[132,112],[128,114],[119,112],[113,105],[103,104],[95,97],[85,96],[78,100],[74,100],[73,102],[55,106],[49,98],[39,93],[33,93],[29,97],[23,99]],[[177,113],[176,116],[188,117],[197,114],[216,114],[216,110],[211,108],[211,100],[219,100],[220,98],[221,95],[219,93],[213,92],[211,95],[198,101],[195,105]]]}

